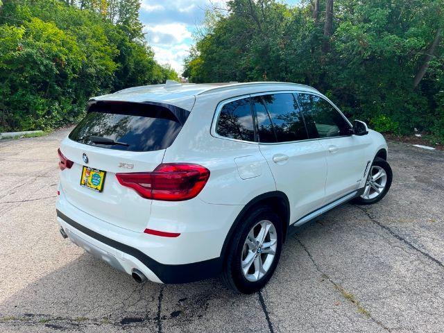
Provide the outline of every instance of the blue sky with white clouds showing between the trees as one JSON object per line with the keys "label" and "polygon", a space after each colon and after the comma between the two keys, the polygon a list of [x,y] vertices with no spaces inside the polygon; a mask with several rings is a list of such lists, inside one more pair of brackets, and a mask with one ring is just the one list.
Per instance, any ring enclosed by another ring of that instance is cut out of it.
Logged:
{"label": "blue sky with white clouds showing between the trees", "polygon": [[[169,63],[182,74],[182,62],[193,44],[193,32],[202,23],[205,9],[224,6],[227,0],[142,0],[140,19],[146,40],[161,64]],[[300,0],[282,0],[291,5]]]}

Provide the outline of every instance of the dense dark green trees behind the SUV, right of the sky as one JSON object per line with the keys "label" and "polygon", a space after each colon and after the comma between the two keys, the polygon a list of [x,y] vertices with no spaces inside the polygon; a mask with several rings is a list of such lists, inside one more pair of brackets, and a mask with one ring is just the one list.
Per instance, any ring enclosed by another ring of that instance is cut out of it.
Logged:
{"label": "dense dark green trees behind the SUV, right of the sky", "polygon": [[[332,22],[325,15],[331,3]],[[377,130],[407,134],[418,128],[444,140],[443,5],[314,0],[290,7],[232,0],[227,12],[208,16],[184,76],[191,82],[304,83]]]}

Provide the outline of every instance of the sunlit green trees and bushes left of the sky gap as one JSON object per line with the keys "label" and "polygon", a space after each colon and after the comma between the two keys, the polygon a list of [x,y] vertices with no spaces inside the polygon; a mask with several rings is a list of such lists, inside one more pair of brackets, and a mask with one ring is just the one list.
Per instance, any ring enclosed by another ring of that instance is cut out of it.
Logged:
{"label": "sunlit green trees and bushes left of the sky gap", "polygon": [[177,79],[155,62],[138,10],[136,0],[3,0],[0,132],[61,126],[91,96]]}

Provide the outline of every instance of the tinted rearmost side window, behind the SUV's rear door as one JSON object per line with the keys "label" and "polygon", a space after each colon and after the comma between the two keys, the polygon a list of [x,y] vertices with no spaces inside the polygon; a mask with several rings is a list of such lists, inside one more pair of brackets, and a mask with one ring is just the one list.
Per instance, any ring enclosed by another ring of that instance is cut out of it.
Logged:
{"label": "tinted rearmost side window, behind the SUV's rear door", "polygon": [[250,99],[238,99],[223,105],[216,133],[232,139],[255,141]]}

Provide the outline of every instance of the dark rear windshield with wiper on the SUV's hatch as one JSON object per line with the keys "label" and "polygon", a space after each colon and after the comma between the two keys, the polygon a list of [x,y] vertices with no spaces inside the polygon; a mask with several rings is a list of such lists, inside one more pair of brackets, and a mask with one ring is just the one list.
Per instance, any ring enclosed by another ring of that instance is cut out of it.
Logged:
{"label": "dark rear windshield with wiper on the SUV's hatch", "polygon": [[178,136],[179,119],[159,105],[93,105],[69,139],[119,151],[158,151],[171,146]]}

